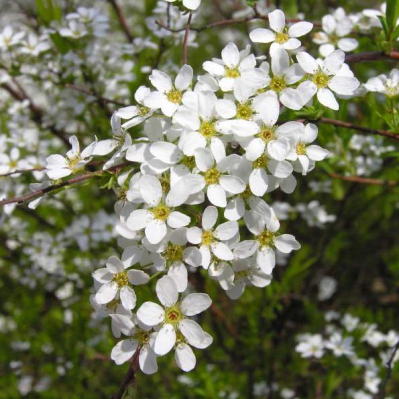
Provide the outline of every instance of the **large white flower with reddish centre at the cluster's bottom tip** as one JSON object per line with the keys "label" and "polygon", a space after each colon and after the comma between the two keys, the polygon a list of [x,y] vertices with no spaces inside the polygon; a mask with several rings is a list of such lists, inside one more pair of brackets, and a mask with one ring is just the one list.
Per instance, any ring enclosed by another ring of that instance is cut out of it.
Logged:
{"label": "large white flower with reddish centre at the cluster's bottom tip", "polygon": [[137,311],[137,317],[148,326],[161,327],[155,338],[154,352],[159,356],[166,355],[176,344],[175,359],[178,366],[184,371],[190,371],[195,366],[195,356],[188,350],[188,344],[204,349],[212,343],[212,338],[188,317],[203,312],[212,301],[207,294],[194,293],[179,302],[178,289],[169,276],[158,280],[156,291],[163,306],[144,302]]}

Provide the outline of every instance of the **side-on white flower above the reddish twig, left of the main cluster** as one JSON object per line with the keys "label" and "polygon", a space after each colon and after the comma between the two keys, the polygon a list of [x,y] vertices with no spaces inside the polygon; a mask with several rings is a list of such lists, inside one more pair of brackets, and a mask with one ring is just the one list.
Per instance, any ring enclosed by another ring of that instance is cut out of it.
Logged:
{"label": "side-on white flower above the reddish twig, left of the main cluster", "polygon": [[66,153],[66,158],[60,154],[53,154],[46,158],[46,173],[52,179],[61,179],[72,173],[80,172],[91,161],[91,155],[96,147],[96,141],[80,152],[76,136],[69,138],[72,149]]}

